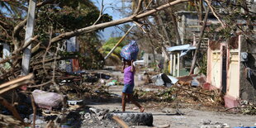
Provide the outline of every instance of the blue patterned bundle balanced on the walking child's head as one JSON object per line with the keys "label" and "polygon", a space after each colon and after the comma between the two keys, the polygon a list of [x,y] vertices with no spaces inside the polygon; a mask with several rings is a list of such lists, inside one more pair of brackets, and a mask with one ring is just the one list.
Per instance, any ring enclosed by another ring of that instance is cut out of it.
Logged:
{"label": "blue patterned bundle balanced on the walking child's head", "polygon": [[131,40],[128,45],[125,45],[121,49],[121,57],[128,61],[130,61],[132,59],[136,60],[138,52],[139,52],[139,46],[137,45],[135,40]]}

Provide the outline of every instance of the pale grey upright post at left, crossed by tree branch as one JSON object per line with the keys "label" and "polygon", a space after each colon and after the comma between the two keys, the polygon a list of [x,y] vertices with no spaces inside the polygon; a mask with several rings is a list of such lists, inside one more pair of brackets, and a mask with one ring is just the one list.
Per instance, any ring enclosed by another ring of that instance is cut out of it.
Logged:
{"label": "pale grey upright post at left, crossed by tree branch", "polygon": [[[26,22],[25,45],[26,43],[30,42],[31,37],[33,36],[33,33],[34,33],[35,13],[36,13],[36,0],[30,0],[28,14],[27,14],[27,22]],[[21,75],[26,75],[29,73],[30,61],[31,61],[31,45],[27,46],[26,49],[23,50]]]}

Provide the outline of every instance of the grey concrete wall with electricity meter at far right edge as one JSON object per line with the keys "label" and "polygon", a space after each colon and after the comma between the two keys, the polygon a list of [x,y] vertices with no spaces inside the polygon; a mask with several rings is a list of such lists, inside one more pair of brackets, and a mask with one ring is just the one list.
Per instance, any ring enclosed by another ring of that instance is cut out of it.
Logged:
{"label": "grey concrete wall with electricity meter at far right edge", "polygon": [[[254,39],[256,36],[254,36]],[[239,97],[242,100],[256,102],[256,43],[255,40],[246,40],[245,36],[241,36],[241,50],[248,54],[246,62],[240,62],[240,88]]]}

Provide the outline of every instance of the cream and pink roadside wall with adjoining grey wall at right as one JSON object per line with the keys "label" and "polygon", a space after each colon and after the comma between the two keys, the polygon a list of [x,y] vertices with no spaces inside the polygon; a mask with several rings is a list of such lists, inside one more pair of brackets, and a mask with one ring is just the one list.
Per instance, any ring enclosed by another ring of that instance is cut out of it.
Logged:
{"label": "cream and pink roadside wall with adjoining grey wall at right", "polygon": [[[255,38],[255,36],[254,36]],[[256,44],[245,36],[209,41],[207,83],[225,93],[225,107],[256,102]]]}

